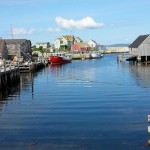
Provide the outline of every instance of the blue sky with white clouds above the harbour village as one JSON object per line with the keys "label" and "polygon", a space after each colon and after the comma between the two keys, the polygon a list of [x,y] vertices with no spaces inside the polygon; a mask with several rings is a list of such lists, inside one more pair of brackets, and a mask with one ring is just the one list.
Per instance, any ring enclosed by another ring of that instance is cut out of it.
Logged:
{"label": "blue sky with white clouds above the harbour village", "polygon": [[150,33],[150,0],[4,0],[0,8],[0,37],[33,45],[53,44],[62,35],[103,45],[132,43]]}

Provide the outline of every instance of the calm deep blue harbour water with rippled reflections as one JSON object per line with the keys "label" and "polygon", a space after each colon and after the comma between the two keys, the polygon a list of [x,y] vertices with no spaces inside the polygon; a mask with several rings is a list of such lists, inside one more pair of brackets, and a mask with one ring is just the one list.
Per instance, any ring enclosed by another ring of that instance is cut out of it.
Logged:
{"label": "calm deep blue harbour water with rippled reflections", "polygon": [[0,150],[147,150],[150,66],[116,54],[21,75],[0,93]]}

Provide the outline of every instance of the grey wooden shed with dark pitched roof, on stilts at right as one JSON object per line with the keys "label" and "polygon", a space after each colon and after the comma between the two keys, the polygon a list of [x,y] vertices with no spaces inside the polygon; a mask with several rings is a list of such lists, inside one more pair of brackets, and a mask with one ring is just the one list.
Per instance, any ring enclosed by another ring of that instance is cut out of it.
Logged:
{"label": "grey wooden shed with dark pitched roof, on stilts at right", "polygon": [[140,35],[129,45],[129,54],[136,56],[142,62],[150,61],[150,34]]}

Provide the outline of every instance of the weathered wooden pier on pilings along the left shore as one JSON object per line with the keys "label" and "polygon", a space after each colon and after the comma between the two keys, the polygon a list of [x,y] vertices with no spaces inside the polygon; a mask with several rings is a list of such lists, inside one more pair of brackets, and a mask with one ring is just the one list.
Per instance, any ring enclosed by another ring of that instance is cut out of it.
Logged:
{"label": "weathered wooden pier on pilings along the left shore", "polygon": [[4,63],[0,64],[0,89],[20,81],[20,73],[34,72],[44,68],[45,62]]}

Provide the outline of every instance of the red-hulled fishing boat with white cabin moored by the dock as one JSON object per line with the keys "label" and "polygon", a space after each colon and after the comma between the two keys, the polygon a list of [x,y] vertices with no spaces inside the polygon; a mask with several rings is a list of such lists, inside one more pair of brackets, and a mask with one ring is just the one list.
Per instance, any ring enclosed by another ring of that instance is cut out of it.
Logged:
{"label": "red-hulled fishing boat with white cabin moored by the dock", "polygon": [[49,57],[49,63],[51,64],[66,64],[71,63],[71,58],[62,53],[52,54]]}

